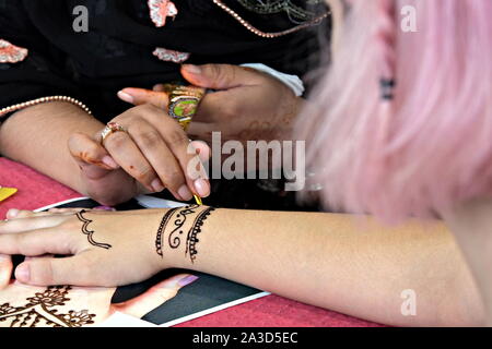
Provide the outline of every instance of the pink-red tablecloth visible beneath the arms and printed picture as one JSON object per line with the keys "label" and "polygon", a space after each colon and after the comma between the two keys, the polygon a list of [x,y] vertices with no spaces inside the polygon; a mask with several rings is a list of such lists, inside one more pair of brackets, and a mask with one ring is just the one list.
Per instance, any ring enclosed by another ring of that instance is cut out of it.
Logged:
{"label": "pink-red tablecloth visible beneath the arms and printed picture", "polygon": [[[23,165],[0,158],[0,185],[19,192],[0,202],[0,219],[10,208],[35,209],[81,196],[73,190]],[[177,325],[177,327],[375,327],[382,326],[337,312],[267,296]]]}

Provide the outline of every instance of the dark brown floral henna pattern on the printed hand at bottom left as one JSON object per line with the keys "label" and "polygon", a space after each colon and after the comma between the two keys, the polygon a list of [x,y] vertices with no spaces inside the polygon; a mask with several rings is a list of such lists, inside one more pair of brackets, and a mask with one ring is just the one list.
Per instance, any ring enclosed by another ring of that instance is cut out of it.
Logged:
{"label": "dark brown floral henna pattern on the printed hand at bottom left", "polygon": [[66,305],[70,286],[51,286],[44,292],[37,292],[27,298],[24,306],[11,306],[10,303],[0,305],[0,323],[11,321],[10,327],[82,327],[93,324],[95,314],[87,310],[71,310],[59,314],[57,306]]}

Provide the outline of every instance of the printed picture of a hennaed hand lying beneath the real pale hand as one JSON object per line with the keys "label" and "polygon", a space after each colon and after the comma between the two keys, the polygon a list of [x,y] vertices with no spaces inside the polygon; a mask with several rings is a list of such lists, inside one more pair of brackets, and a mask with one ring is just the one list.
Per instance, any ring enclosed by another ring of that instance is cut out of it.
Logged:
{"label": "printed picture of a hennaed hand lying beneath the real pale hand", "polygon": [[[33,263],[39,258],[26,260]],[[0,327],[104,326],[104,321],[115,312],[141,318],[197,279],[189,274],[176,275],[141,296],[113,304],[116,288],[27,286],[11,280],[11,273],[10,256],[0,255]]]}

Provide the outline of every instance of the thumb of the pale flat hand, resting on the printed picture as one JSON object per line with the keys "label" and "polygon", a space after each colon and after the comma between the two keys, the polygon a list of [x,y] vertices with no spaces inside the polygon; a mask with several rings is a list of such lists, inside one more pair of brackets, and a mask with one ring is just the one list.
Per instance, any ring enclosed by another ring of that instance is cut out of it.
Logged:
{"label": "thumb of the pale flat hand, resting on the printed picture", "polygon": [[94,267],[95,265],[91,262],[90,256],[83,253],[66,258],[34,258],[16,267],[15,278],[22,284],[33,286],[73,285],[89,287],[95,286],[91,282]]}

